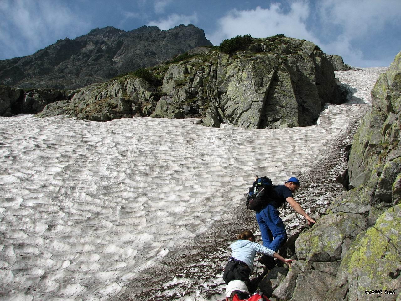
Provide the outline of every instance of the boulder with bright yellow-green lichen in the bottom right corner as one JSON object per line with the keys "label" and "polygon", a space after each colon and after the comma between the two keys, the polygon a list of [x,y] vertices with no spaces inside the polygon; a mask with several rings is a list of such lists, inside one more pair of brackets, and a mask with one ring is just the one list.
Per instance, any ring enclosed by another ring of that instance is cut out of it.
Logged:
{"label": "boulder with bright yellow-green lichen in the bottom right corner", "polygon": [[[397,205],[384,212],[374,227],[358,235],[344,256],[325,300],[400,298],[400,238],[401,205]],[[372,293],[373,290],[381,292]]]}

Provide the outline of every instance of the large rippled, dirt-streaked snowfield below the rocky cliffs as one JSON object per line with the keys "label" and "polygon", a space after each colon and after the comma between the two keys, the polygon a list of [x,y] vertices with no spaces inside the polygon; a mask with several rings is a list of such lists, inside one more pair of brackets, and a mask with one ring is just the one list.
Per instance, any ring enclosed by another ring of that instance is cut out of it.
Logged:
{"label": "large rippled, dirt-streaked snowfield below the rocky cliffs", "polygon": [[[138,299],[135,285],[139,294],[146,281],[159,281],[144,276],[169,258],[177,262],[166,266],[179,267],[154,285],[163,288],[160,299],[222,299],[227,245],[218,237],[190,243],[242,218],[234,210],[255,175],[274,183],[302,177],[296,199],[317,215],[339,193],[335,177],[346,165],[340,146],[349,143],[384,71],[336,72],[354,94],[304,128],[206,128],[194,118],[0,117],[2,299]],[[290,232],[304,224],[294,216]]]}

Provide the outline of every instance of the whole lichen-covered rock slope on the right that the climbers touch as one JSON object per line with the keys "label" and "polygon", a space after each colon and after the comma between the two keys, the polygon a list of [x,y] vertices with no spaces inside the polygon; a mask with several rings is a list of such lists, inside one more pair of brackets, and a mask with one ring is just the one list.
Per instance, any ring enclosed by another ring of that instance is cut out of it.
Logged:
{"label": "whole lichen-covered rock slope on the right that the climbers touch", "polygon": [[271,292],[279,300],[401,298],[401,53],[371,94],[351,146],[352,189],[299,235],[298,260]]}

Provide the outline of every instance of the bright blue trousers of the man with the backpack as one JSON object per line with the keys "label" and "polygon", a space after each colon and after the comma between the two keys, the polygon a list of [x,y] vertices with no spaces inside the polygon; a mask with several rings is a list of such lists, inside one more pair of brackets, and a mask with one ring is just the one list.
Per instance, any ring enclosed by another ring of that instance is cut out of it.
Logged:
{"label": "bright blue trousers of the man with the backpack", "polygon": [[277,252],[287,241],[286,227],[277,208],[267,205],[261,211],[256,212],[256,220],[259,224],[263,246]]}

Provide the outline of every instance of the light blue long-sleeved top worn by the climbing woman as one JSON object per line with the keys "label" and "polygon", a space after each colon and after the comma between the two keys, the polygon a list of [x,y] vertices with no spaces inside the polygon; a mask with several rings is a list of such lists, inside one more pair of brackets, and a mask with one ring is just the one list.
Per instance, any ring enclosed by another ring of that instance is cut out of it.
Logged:
{"label": "light blue long-sleeved top worn by the climbing woman", "polygon": [[233,242],[230,248],[231,250],[233,250],[233,252],[231,252],[231,257],[245,262],[251,270],[253,268],[252,264],[253,259],[255,259],[256,256],[256,252],[272,257],[275,253],[273,250],[270,250],[269,248],[262,246],[261,244],[243,239],[239,239],[236,242]]}

